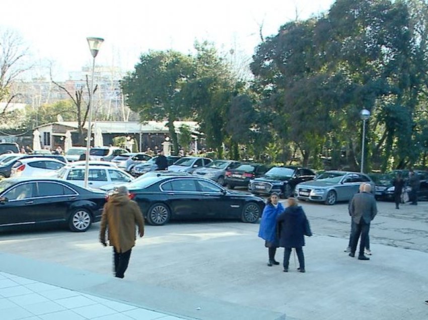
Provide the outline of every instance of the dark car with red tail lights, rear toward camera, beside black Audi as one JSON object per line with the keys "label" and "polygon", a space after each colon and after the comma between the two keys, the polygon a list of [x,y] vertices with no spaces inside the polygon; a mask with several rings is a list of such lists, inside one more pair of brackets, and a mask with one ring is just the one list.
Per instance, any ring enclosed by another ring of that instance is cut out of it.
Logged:
{"label": "dark car with red tail lights, rear toward camera, beside black Audi", "polygon": [[225,183],[229,189],[236,186],[247,187],[251,179],[261,177],[270,167],[263,164],[241,164],[233,170],[226,171]]}

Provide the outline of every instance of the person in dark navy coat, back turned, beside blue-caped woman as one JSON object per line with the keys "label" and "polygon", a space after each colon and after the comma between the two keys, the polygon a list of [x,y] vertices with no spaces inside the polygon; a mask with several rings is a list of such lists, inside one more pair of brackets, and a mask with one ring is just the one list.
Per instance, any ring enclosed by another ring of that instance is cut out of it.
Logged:
{"label": "person in dark navy coat, back turned, beside blue-caped woman", "polygon": [[299,259],[300,272],[305,270],[305,256],[303,246],[305,246],[305,235],[311,236],[311,228],[308,218],[301,206],[297,205],[295,198],[288,198],[288,207],[276,217],[278,222],[279,247],[284,248],[284,272],[289,272],[289,262],[291,251],[294,248]]}

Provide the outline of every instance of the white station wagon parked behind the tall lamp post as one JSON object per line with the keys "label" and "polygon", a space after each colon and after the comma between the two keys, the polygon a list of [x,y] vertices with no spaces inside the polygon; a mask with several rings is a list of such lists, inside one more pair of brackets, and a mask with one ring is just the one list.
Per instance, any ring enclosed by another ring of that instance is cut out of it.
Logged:
{"label": "white station wagon parked behind the tall lamp post", "polygon": [[[85,167],[66,166],[58,171],[57,178],[83,187],[85,184]],[[134,177],[118,168],[106,166],[89,167],[88,187],[90,188],[100,188],[104,185],[117,183],[123,184],[132,180],[134,180]]]}

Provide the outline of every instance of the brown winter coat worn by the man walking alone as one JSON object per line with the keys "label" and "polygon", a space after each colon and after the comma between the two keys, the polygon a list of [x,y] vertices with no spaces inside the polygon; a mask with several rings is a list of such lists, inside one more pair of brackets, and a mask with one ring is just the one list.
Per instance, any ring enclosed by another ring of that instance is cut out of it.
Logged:
{"label": "brown winter coat worn by the man walking alone", "polygon": [[113,195],[104,205],[101,217],[100,242],[105,243],[108,226],[108,240],[117,252],[126,252],[135,246],[135,225],[138,233],[144,234],[144,219],[135,201],[127,196]]}

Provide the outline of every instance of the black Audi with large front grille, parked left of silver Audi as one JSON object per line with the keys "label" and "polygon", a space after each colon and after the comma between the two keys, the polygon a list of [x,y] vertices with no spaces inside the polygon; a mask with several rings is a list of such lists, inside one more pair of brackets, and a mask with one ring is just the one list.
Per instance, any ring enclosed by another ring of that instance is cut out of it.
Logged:
{"label": "black Audi with large front grille, parked left of silver Audi", "polygon": [[253,194],[265,195],[276,192],[281,198],[289,198],[294,195],[298,183],[314,180],[315,177],[315,172],[307,168],[273,167],[261,177],[251,179],[248,190]]}

